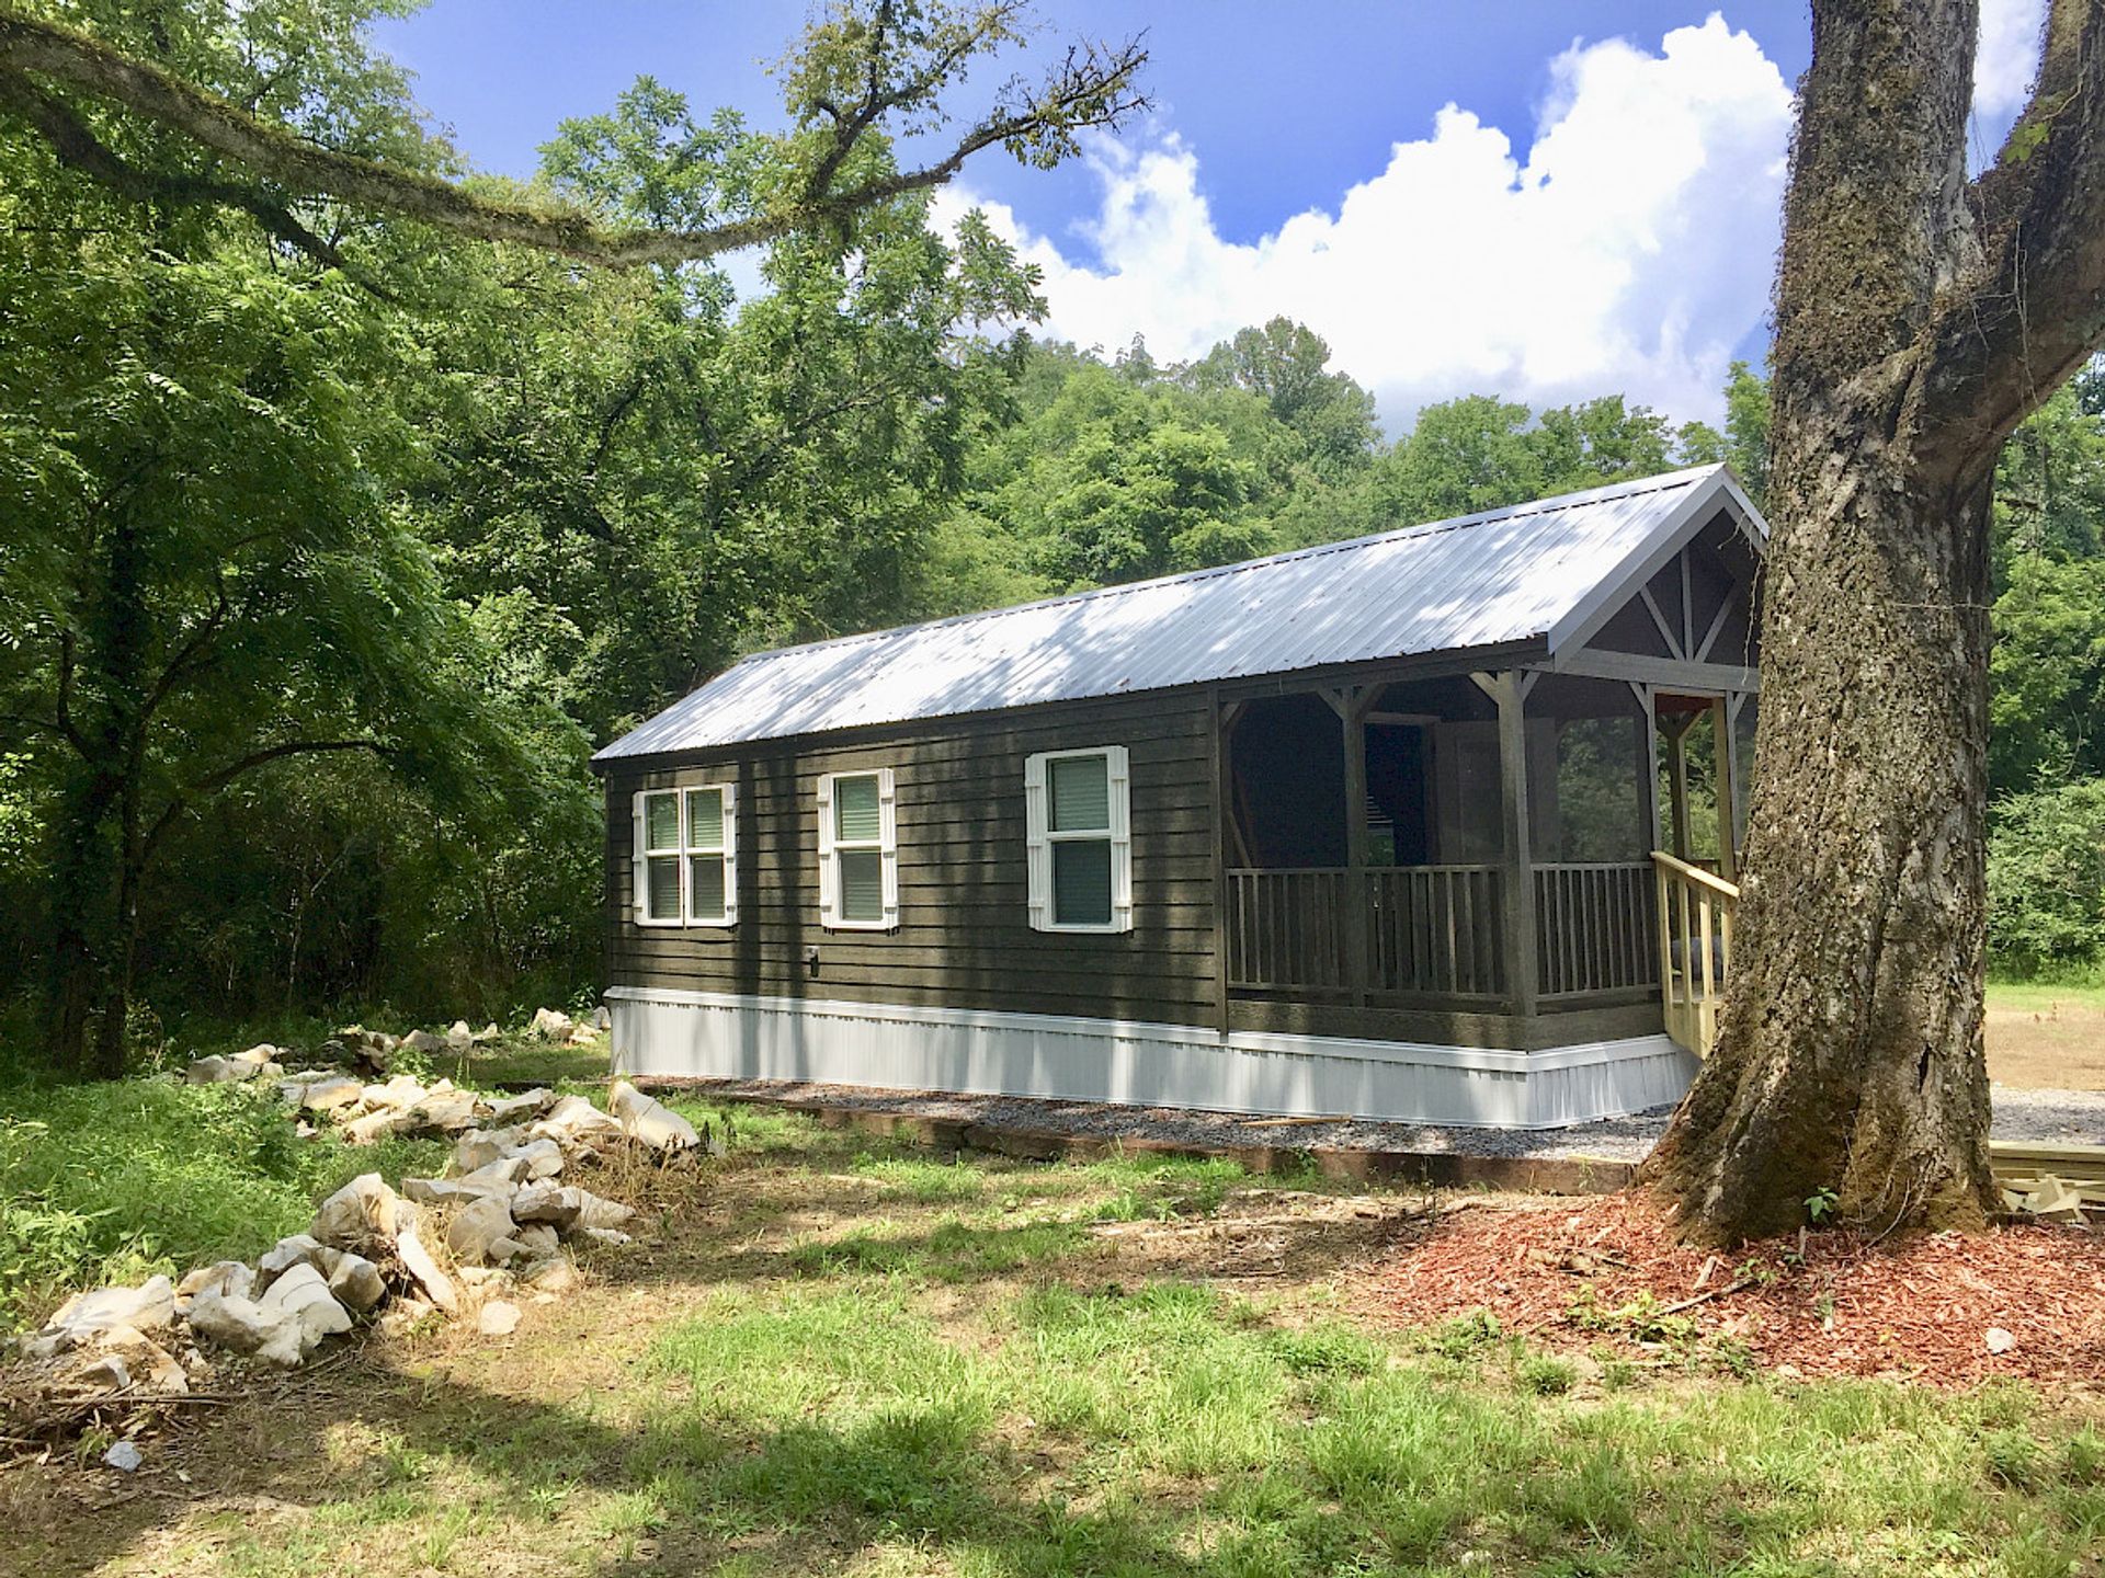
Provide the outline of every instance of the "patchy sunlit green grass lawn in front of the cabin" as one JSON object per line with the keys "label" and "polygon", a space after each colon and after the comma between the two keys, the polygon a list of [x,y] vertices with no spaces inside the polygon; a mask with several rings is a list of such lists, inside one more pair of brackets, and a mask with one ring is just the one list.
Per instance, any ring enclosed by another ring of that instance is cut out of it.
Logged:
{"label": "patchy sunlit green grass lawn in front of the cabin", "polygon": [[0,1473],[0,1570],[2044,1578],[2105,1549],[2097,1399],[1417,1330],[1364,1269],[1419,1195],[741,1113],[659,1206],[509,1340],[375,1338],[133,1479]]}

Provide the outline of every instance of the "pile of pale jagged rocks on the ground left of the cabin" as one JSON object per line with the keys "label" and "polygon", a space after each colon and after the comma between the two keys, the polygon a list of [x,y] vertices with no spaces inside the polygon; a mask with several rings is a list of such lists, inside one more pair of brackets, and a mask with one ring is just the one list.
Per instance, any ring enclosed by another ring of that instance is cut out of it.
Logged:
{"label": "pile of pale jagged rocks on the ground left of the cabin", "polygon": [[284,1075],[272,1054],[200,1058],[246,1073],[194,1067],[192,1079],[274,1071],[303,1121],[337,1124],[354,1142],[410,1130],[453,1134],[442,1174],[402,1178],[400,1193],[377,1172],[358,1176],[320,1203],[305,1233],[280,1239],[255,1265],[219,1260],[181,1281],[152,1277],[67,1300],[17,1344],[21,1363],[6,1376],[15,1399],[78,1412],[181,1397],[210,1374],[206,1349],[293,1368],[366,1319],[406,1326],[440,1313],[509,1334],[522,1300],[552,1302],[575,1286],[570,1250],[629,1241],[634,1210],[566,1182],[566,1170],[617,1147],[669,1155],[709,1145],[625,1081],[615,1081],[602,1111],[549,1090],[493,1098],[446,1079],[362,1084],[341,1069]]}

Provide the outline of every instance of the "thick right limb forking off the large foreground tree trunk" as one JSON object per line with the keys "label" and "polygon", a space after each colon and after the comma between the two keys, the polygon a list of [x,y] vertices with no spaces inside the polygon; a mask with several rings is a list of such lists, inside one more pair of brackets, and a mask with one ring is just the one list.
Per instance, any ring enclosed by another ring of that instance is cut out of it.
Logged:
{"label": "thick right limb forking off the large foreground tree trunk", "polygon": [[1970,187],[1979,261],[1945,292],[1918,393],[1939,467],[2002,440],[2105,341],[2105,0],[2054,0],[2040,76]]}

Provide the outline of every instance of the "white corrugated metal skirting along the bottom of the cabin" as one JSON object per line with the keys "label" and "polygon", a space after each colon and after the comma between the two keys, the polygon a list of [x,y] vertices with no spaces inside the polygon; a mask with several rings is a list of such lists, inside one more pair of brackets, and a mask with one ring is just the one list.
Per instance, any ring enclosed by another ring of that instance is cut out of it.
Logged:
{"label": "white corrugated metal skirting along the bottom of the cabin", "polygon": [[1697,1069],[1665,1035],[1501,1052],[669,987],[606,999],[615,1071],[659,1077],[1562,1128],[1678,1100]]}

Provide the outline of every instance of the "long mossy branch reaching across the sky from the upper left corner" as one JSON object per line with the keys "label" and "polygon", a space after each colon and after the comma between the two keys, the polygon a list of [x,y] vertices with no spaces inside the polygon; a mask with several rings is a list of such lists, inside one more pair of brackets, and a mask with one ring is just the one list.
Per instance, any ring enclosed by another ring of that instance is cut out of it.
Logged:
{"label": "long mossy branch reaching across the sky from the upper left corner", "polygon": [[[404,215],[457,236],[533,246],[585,263],[629,267],[707,259],[758,246],[798,229],[838,223],[907,191],[943,185],[966,158],[994,143],[1006,143],[1021,158],[1046,139],[1071,139],[1074,133],[1090,126],[1118,126],[1147,103],[1135,88],[1145,59],[1147,53],[1137,42],[1118,50],[1069,50],[1067,63],[1036,97],[1021,105],[1002,107],[975,124],[960,137],[949,156],[918,170],[834,189],[831,175],[846,164],[855,143],[871,133],[886,109],[903,103],[901,95],[911,90],[911,84],[878,90],[871,97],[871,103],[880,105],[878,112],[853,133],[844,133],[848,141],[836,149],[838,156],[827,154],[821,162],[825,183],[806,185],[802,200],[705,229],[623,229],[602,227],[575,208],[499,202],[474,196],[432,175],[398,170],[318,147],[284,126],[257,120],[240,105],[206,93],[152,61],[124,55],[69,27],[0,11],[0,88],[4,88],[0,103],[36,126],[59,151],[59,158],[137,200],[242,208],[282,240],[318,257],[324,250],[333,252],[333,248],[305,231],[278,198],[223,181],[135,170],[103,147],[67,105],[36,88],[27,76],[48,78],[156,120],[282,191],[320,194]],[[855,124],[853,114],[848,124]]]}

